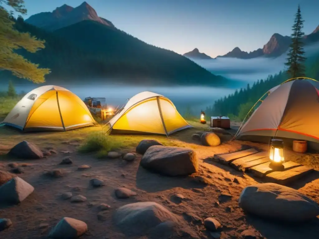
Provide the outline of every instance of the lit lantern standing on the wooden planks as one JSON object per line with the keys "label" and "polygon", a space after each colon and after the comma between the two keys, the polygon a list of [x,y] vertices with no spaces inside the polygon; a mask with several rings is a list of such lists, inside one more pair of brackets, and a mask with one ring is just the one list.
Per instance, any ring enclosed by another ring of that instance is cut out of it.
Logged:
{"label": "lit lantern standing on the wooden planks", "polygon": [[275,168],[276,170],[284,169],[282,163],[285,162],[284,157],[284,141],[281,139],[272,139],[270,146],[270,167]]}

